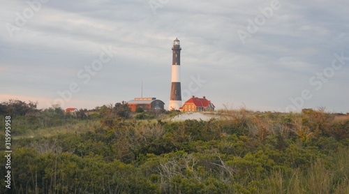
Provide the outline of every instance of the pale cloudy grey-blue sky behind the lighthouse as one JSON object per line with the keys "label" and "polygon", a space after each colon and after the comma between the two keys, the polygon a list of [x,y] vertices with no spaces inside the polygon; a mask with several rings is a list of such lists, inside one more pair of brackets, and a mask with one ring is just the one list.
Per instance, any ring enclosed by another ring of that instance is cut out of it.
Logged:
{"label": "pale cloudy grey-blue sky behind the lighthouse", "polygon": [[1,102],[168,107],[178,38],[183,102],[349,112],[349,1],[0,2]]}

